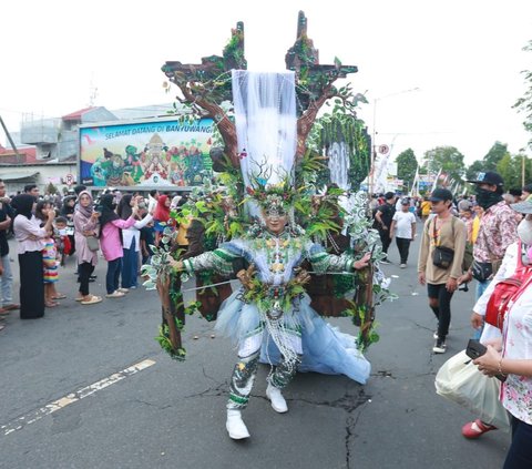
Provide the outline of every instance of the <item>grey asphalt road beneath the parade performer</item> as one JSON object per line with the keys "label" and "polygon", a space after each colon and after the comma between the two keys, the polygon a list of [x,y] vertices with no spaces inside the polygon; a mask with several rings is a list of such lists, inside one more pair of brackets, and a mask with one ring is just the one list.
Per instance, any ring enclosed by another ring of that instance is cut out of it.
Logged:
{"label": "grey asphalt road beneath the parade performer", "polygon": [[[397,262],[395,245],[390,252]],[[176,363],[154,340],[154,292],[82,306],[70,263],[59,284],[69,299],[38,320],[14,312],[0,333],[0,468],[500,468],[510,436],[466,440],[460,428],[473,416],[433,385],[469,338],[472,293],[456,294],[448,353],[434,356],[417,244],[410,257],[407,269],[385,266],[399,299],[377,312],[381,340],[368,351],[369,383],[299,374],[285,391],[289,412],[278,415],[265,398],[263,366],[244,442],[225,431],[236,355],[228,340],[211,338],[213,324],[187,320],[187,359]],[[92,293],[104,294],[104,269],[102,261]],[[331,322],[355,333],[348,319]]]}

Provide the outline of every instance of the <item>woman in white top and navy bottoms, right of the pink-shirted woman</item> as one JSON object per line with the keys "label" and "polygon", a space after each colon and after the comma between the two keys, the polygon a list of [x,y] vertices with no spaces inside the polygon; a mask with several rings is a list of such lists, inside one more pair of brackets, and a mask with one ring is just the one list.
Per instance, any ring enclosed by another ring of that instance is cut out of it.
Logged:
{"label": "woman in white top and navy bottoms, right of the pink-shirted woman", "polygon": [[[119,216],[127,220],[133,214],[136,206],[136,198],[131,194],[124,195],[119,204]],[[153,220],[152,214],[147,214],[144,218],[135,222],[126,230],[122,230],[122,246],[124,257],[122,259],[122,288],[121,292],[127,292],[130,288],[136,288],[136,277],[139,274],[139,253],[141,251],[141,230]]]}

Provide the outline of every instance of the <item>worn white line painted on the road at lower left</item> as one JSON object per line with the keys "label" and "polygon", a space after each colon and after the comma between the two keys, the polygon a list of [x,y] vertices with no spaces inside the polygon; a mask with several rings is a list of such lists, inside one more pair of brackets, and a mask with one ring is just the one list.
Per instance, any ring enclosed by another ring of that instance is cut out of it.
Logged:
{"label": "worn white line painted on the road at lower left", "polygon": [[68,396],[62,397],[61,399],[54,400],[53,402],[50,402],[44,407],[41,407],[40,409],[31,411],[25,416],[19,417],[18,419],[9,424],[0,426],[0,431],[1,434],[3,434],[3,436],[6,436],[9,434],[12,434],[13,431],[20,430],[23,427],[30,424],[34,424],[41,418],[55,412],[57,410],[64,409],[70,404],[76,402],[78,400],[92,396],[94,392],[105,389],[108,386],[114,385],[115,383],[119,383],[122,379],[125,379],[139,371],[142,371],[143,369],[146,369],[152,365],[155,365],[154,360],[145,359],[145,360],[139,361],[137,364],[132,365],[129,368],[123,369],[122,371],[114,373],[111,376],[108,376],[106,378],[101,379],[100,381],[93,383],[90,386],[86,386],[84,388],[76,390],[75,392],[71,392]]}

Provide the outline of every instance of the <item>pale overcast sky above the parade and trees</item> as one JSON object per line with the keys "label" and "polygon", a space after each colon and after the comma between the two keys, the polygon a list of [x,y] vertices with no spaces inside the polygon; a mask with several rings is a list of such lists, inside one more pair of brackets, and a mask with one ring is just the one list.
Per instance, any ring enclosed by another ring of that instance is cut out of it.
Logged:
{"label": "pale overcast sky above the parade and trees", "polygon": [[349,80],[370,102],[359,115],[371,133],[377,110],[376,141],[393,154],[453,145],[471,163],[495,141],[525,147],[511,106],[532,69],[530,0],[4,1],[0,115],[18,131],[24,113],[68,114],[89,104],[91,83],[111,110],[170,102],[162,64],[221,55],[237,21],[248,68],[283,70],[298,10],[321,63],[358,67]]}

